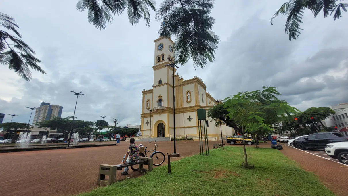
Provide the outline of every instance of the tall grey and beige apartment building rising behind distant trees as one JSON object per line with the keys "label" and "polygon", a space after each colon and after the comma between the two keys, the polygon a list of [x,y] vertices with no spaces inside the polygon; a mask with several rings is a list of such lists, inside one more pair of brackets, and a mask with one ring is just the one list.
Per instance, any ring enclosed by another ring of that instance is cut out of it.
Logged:
{"label": "tall grey and beige apartment building rising behind distant trees", "polygon": [[35,123],[45,120],[50,120],[52,117],[61,117],[63,111],[62,106],[51,105],[49,103],[42,102],[40,107],[36,108],[33,126]]}

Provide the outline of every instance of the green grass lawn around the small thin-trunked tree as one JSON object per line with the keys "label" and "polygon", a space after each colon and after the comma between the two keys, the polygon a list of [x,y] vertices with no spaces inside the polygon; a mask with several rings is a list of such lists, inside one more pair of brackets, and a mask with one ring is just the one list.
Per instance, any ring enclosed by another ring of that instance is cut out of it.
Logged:
{"label": "green grass lawn around the small thin-trunked tree", "polygon": [[172,162],[172,174],[167,174],[168,166],[163,165],[139,178],[80,195],[334,195],[314,174],[275,149],[248,147],[255,169],[243,169],[241,149],[214,149],[210,156],[194,155]]}

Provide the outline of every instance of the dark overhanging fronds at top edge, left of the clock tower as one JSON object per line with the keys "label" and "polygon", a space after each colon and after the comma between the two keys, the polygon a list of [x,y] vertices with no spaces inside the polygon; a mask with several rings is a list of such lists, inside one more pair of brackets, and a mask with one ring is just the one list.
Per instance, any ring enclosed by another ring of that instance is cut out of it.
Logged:
{"label": "dark overhanging fronds at top edge, left of the clock tower", "polygon": [[153,0],[79,0],[76,9],[87,10],[88,22],[101,30],[105,29],[106,22],[113,21],[111,13],[121,15],[126,8],[130,24],[137,25],[144,17],[146,25],[150,26],[148,7],[156,11],[155,5],[156,2]]}

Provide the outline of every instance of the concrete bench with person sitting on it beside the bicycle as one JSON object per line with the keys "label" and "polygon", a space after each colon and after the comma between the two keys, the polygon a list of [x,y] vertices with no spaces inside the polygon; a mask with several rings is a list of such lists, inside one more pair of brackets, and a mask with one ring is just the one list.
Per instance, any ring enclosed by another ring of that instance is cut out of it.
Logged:
{"label": "concrete bench with person sitting on it beside the bicycle", "polygon": [[[102,164],[99,165],[99,173],[98,173],[98,185],[110,185],[111,183],[116,181],[116,173],[117,170],[122,170],[122,168],[129,167],[132,165],[139,165],[140,172],[152,171],[153,160],[149,157],[139,157],[139,161],[135,163],[125,163],[118,165],[108,165]],[[148,169],[144,169],[144,165],[148,165]],[[105,180],[105,175],[109,176],[108,180]]]}

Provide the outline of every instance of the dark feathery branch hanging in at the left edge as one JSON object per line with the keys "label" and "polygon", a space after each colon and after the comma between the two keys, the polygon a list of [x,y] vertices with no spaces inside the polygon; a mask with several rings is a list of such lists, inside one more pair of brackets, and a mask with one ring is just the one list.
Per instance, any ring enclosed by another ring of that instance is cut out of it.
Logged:
{"label": "dark feathery branch hanging in at the left edge", "polygon": [[10,70],[14,70],[24,80],[30,81],[30,68],[45,74],[45,71],[38,65],[41,61],[34,57],[34,50],[23,40],[22,35],[16,28],[19,26],[15,20],[3,13],[0,13],[0,24],[3,28],[12,31],[15,36],[0,30],[0,63],[8,65]]}

